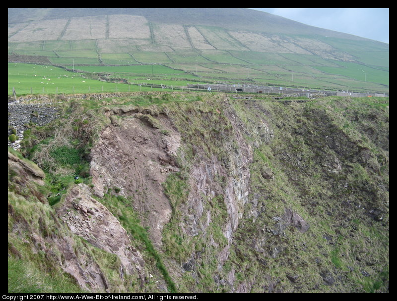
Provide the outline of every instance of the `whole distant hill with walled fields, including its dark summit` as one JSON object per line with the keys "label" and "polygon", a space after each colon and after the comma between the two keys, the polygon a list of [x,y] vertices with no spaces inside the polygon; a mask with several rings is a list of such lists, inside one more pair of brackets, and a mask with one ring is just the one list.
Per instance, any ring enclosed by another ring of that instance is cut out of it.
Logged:
{"label": "whole distant hill with walled fields, including its dark summit", "polygon": [[389,89],[389,45],[246,8],[8,12],[8,52],[57,65],[154,63],[207,81]]}

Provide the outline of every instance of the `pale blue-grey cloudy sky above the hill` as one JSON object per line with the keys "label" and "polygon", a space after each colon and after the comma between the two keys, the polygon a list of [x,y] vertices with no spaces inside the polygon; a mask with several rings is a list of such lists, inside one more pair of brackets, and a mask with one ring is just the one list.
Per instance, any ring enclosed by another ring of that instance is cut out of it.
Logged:
{"label": "pale blue-grey cloudy sky above the hill", "polygon": [[389,44],[389,8],[251,8]]}

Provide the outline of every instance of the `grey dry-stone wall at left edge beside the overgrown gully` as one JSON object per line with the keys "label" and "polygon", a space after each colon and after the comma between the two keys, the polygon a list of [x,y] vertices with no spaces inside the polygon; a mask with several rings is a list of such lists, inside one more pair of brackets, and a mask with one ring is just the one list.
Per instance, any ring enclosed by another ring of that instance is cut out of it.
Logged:
{"label": "grey dry-stone wall at left edge beside the overgrown gully", "polygon": [[28,128],[30,123],[43,126],[59,118],[60,115],[61,113],[58,107],[48,104],[8,103],[8,136],[12,134],[12,129],[15,129],[16,136],[19,138],[14,143],[8,140],[8,145],[14,149],[18,149],[23,139],[23,132]]}

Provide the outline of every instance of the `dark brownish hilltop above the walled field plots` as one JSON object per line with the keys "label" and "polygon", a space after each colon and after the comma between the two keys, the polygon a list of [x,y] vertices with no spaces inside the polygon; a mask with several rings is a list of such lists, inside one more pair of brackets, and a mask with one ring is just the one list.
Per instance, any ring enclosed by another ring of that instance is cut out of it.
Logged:
{"label": "dark brownish hilltop above the walled field plots", "polygon": [[8,23],[117,14],[144,16],[153,23],[208,25],[230,30],[318,34],[365,40],[365,38],[309,26],[248,8],[8,8]]}

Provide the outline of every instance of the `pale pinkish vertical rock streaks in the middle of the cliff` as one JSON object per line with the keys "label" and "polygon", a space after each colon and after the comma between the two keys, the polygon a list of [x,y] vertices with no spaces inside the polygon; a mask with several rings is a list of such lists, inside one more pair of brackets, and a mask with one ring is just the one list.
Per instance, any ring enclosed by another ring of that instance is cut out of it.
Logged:
{"label": "pale pinkish vertical rock streaks in the middle of the cliff", "polygon": [[[228,243],[232,242],[232,234],[238,227],[244,204],[248,201],[250,180],[248,163],[252,160],[251,147],[242,139],[237,141],[239,151],[230,153],[229,169],[226,169],[215,157],[201,161],[192,168],[189,199],[182,206],[182,210],[187,215],[193,215],[194,218],[186,221],[185,233],[191,236],[205,233],[206,227],[211,223],[211,212],[204,210],[203,207],[207,200],[221,195],[228,213],[222,232]],[[216,180],[219,178],[224,178],[225,187]],[[229,245],[220,253],[221,262],[227,259],[228,250]]]}

